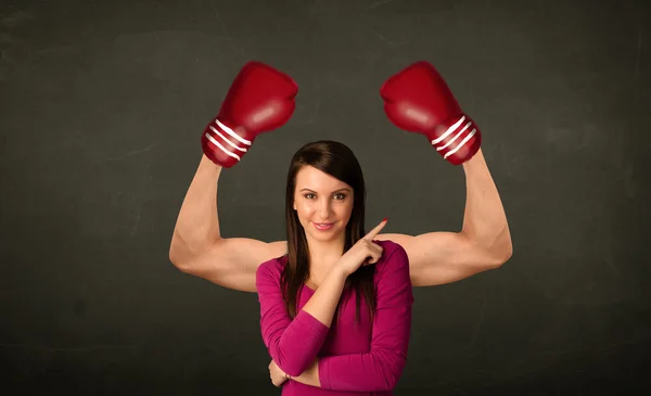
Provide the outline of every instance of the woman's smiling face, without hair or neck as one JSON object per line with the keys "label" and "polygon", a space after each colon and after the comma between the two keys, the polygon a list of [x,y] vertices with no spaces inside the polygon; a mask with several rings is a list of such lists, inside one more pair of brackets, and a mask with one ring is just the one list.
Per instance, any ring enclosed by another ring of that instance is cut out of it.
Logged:
{"label": "woman's smiling face, without hair or neck", "polygon": [[332,176],[304,166],[296,175],[294,210],[308,240],[344,238],[353,213],[353,188]]}

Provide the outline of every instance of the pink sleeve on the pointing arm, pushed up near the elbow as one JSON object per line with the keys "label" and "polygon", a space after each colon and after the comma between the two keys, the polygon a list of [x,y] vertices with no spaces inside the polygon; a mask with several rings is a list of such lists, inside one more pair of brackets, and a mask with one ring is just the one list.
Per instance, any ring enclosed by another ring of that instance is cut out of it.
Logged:
{"label": "pink sleeve on the pointing arm, pushed up near the elbow", "polygon": [[328,327],[304,310],[294,320],[286,311],[280,271],[261,265],[256,271],[263,341],[278,367],[298,376],[316,359],[328,335]]}

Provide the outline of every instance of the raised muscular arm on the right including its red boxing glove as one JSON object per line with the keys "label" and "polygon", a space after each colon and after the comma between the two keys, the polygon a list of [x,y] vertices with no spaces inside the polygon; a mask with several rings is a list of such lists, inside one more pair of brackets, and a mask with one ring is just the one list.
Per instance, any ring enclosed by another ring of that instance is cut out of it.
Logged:
{"label": "raised muscular arm on the right including its red boxing glove", "polygon": [[449,283],[501,266],[512,254],[511,235],[480,150],[482,133],[477,125],[461,111],[443,77],[427,62],[417,62],[390,77],[380,94],[393,124],[424,135],[452,165],[463,164],[467,200],[460,232],[379,238],[405,247],[417,286]]}

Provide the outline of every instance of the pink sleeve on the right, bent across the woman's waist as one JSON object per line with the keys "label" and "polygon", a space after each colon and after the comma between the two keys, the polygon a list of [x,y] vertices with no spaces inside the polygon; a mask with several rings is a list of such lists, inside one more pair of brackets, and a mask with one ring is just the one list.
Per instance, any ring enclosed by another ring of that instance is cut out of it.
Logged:
{"label": "pink sleeve on the right, bent across the woman's waist", "polygon": [[319,358],[321,387],[381,392],[395,387],[407,363],[413,294],[409,258],[398,245],[378,282],[371,350]]}

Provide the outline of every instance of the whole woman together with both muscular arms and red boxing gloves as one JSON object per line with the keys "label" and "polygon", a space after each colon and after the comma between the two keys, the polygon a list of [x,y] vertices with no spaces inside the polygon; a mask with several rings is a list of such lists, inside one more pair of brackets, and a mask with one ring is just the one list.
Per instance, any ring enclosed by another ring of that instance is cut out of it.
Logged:
{"label": "whole woman together with both muscular arms and red boxing gloves", "polygon": [[[361,167],[346,145],[322,140],[304,145],[291,161],[286,241],[222,238],[215,206],[222,168],[238,164],[256,136],[291,117],[296,92],[291,77],[257,62],[237,76],[204,128],[204,156],[169,258],[187,273],[258,293],[269,372],[283,395],[391,395],[407,359],[412,285],[454,282],[501,266],[511,254],[506,214],[478,148],[478,129],[436,71],[421,62],[390,78],[381,94],[394,124],[426,133],[435,152],[462,164],[461,231],[380,234],[383,220],[366,232]],[[430,112],[425,118],[414,117],[422,115],[414,113],[414,99]]]}

